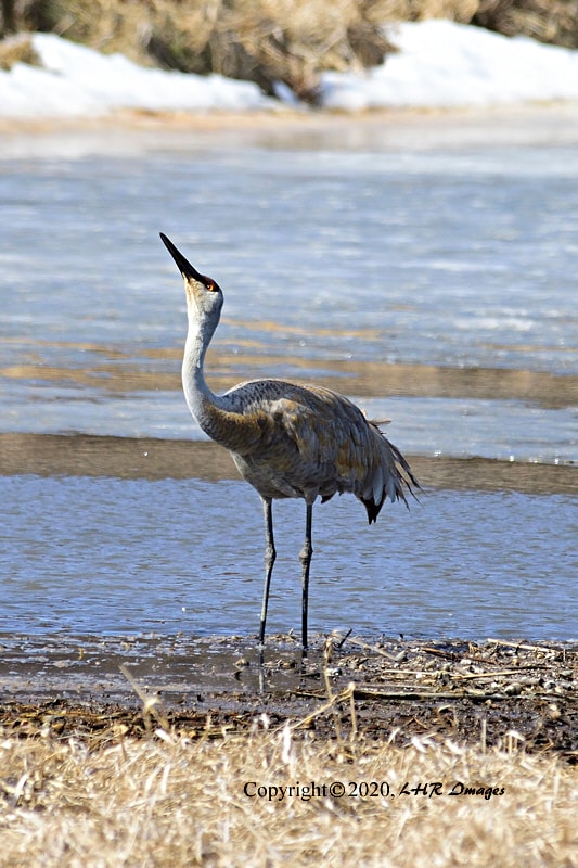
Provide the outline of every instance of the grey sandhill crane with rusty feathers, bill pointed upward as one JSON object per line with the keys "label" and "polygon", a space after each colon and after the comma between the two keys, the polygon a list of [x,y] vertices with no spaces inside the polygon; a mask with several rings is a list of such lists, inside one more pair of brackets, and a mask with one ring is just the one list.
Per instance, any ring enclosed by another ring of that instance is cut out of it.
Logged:
{"label": "grey sandhill crane with rusty feathers, bill pointed upward", "polygon": [[205,353],[219,323],[220,286],[201,275],[160,233],[175,259],[187,294],[189,330],[182,361],[187,404],[203,431],[231,452],[241,475],[257,489],[265,514],[265,587],[259,644],[265,643],[269,588],[275,561],[272,501],[301,497],[306,503],[301,562],[301,640],[307,651],[309,565],[313,547],[313,502],[338,492],[352,493],[367,509],[371,524],[386,498],[407,505],[404,488],[420,487],[399,449],[377,424],[343,395],[314,385],[284,380],[252,380],[222,395],[205,382]]}

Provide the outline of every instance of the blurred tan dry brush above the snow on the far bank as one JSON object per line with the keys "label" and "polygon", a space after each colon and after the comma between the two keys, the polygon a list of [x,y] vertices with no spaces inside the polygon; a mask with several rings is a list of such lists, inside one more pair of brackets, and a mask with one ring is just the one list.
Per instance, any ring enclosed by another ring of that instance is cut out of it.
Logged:
{"label": "blurred tan dry brush above the snow on the far bank", "polygon": [[375,66],[395,51],[399,21],[444,17],[578,47],[578,0],[1,0],[1,11],[3,68],[34,62],[26,34],[41,30],[266,93],[281,81],[312,103],[321,72]]}

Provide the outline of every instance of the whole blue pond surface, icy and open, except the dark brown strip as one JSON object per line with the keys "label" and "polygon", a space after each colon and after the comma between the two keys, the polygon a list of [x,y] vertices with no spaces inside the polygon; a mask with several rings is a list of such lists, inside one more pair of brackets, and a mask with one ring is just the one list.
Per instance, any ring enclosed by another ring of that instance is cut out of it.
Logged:
{"label": "whole blue pond surface, icy and open, except the dark brown strip", "polygon": [[[324,382],[464,476],[578,459],[577,145],[0,153],[0,434],[202,436],[162,230],[223,289],[216,388]],[[248,486],[27,469],[0,476],[2,631],[256,631]],[[575,496],[490,487],[371,528],[352,498],[316,509],[312,628],[576,638]],[[303,512],[277,509],[271,630],[298,627]]]}

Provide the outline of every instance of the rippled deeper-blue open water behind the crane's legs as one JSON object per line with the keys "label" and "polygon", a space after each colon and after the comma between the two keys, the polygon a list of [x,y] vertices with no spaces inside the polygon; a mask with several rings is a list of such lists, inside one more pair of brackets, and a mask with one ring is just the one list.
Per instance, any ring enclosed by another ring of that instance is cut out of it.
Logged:
{"label": "rippled deeper-blue open water behind the crane's legs", "polygon": [[[4,631],[257,631],[261,511],[243,482],[14,476],[0,487],[12,505]],[[299,623],[304,509],[275,507],[269,629],[286,631]],[[384,512],[368,527],[352,498],[317,509],[312,630],[577,638],[570,497],[432,492],[410,513]]]}

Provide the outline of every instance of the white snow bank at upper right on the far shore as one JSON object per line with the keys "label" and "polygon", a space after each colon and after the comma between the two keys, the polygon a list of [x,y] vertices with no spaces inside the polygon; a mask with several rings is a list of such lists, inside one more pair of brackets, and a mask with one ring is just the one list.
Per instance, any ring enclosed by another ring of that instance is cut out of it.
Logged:
{"label": "white snow bank at upper right on the far shore", "polygon": [[578,51],[449,21],[400,25],[398,54],[364,77],[326,73],[323,104],[457,107],[578,100]]}

